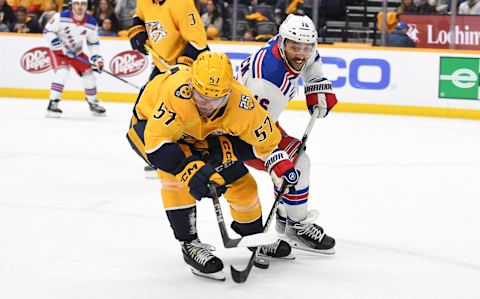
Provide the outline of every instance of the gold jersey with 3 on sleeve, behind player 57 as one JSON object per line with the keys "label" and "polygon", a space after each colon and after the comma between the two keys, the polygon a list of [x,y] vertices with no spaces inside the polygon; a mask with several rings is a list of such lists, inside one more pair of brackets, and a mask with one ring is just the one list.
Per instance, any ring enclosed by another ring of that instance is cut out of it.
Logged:
{"label": "gold jersey with 3 on sleeve, behind player 57", "polygon": [[[145,22],[150,46],[169,64],[183,54],[190,43],[197,49],[207,46],[207,35],[193,0],[137,0],[135,15]],[[166,67],[156,59],[159,70]]]}

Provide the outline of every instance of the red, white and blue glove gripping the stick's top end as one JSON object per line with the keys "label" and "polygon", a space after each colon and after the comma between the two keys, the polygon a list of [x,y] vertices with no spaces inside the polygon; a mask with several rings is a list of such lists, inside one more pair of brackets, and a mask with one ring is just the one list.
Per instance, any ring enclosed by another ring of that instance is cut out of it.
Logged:
{"label": "red, white and blue glove gripping the stick's top end", "polygon": [[316,107],[320,109],[318,118],[327,116],[328,112],[337,104],[337,97],[333,93],[332,82],[325,78],[320,80],[312,79],[305,84],[305,95],[310,115],[312,115]]}

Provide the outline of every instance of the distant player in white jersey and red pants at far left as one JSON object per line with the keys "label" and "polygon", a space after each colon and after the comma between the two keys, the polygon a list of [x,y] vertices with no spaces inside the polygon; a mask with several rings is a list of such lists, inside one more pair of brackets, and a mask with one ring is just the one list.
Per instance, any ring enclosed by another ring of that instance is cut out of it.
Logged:
{"label": "distant player in white jersey and red pants at far left", "polygon": [[[56,13],[45,26],[43,33],[50,43],[54,78],[50,89],[47,117],[60,117],[60,95],[67,82],[70,68],[82,78],[86,100],[93,115],[105,115],[105,108],[97,99],[97,83],[93,71],[103,70],[100,55],[97,21],[87,13],[87,0],[72,0],[72,9]],[[90,59],[83,53],[87,42]]]}

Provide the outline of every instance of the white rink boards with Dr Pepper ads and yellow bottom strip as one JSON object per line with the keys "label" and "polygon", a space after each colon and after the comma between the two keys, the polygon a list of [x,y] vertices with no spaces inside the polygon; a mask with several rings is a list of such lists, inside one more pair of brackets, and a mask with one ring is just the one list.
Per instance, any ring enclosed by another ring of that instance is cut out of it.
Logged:
{"label": "white rink boards with Dr Pepper ads and yellow bottom strip", "polygon": [[[53,75],[48,43],[41,35],[0,34],[0,96],[46,99]],[[225,52],[235,71],[263,43],[210,42]],[[340,103],[335,111],[480,119],[480,51],[318,47],[326,76]],[[106,70],[143,85],[151,61],[130,50],[129,41],[103,38]],[[107,74],[97,76],[104,101],[133,102],[137,90]],[[303,83],[301,83],[303,84]],[[71,72],[65,99],[83,99],[81,80]],[[304,109],[303,87],[289,108]]]}

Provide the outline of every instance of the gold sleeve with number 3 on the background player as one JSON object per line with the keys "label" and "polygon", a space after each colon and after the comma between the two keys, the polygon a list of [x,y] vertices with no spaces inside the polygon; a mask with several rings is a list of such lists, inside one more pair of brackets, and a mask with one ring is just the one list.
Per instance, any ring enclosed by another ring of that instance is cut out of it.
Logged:
{"label": "gold sleeve with number 3 on the background player", "polygon": [[201,51],[207,47],[207,33],[193,0],[178,1],[178,12],[172,14],[180,34],[193,48]]}

